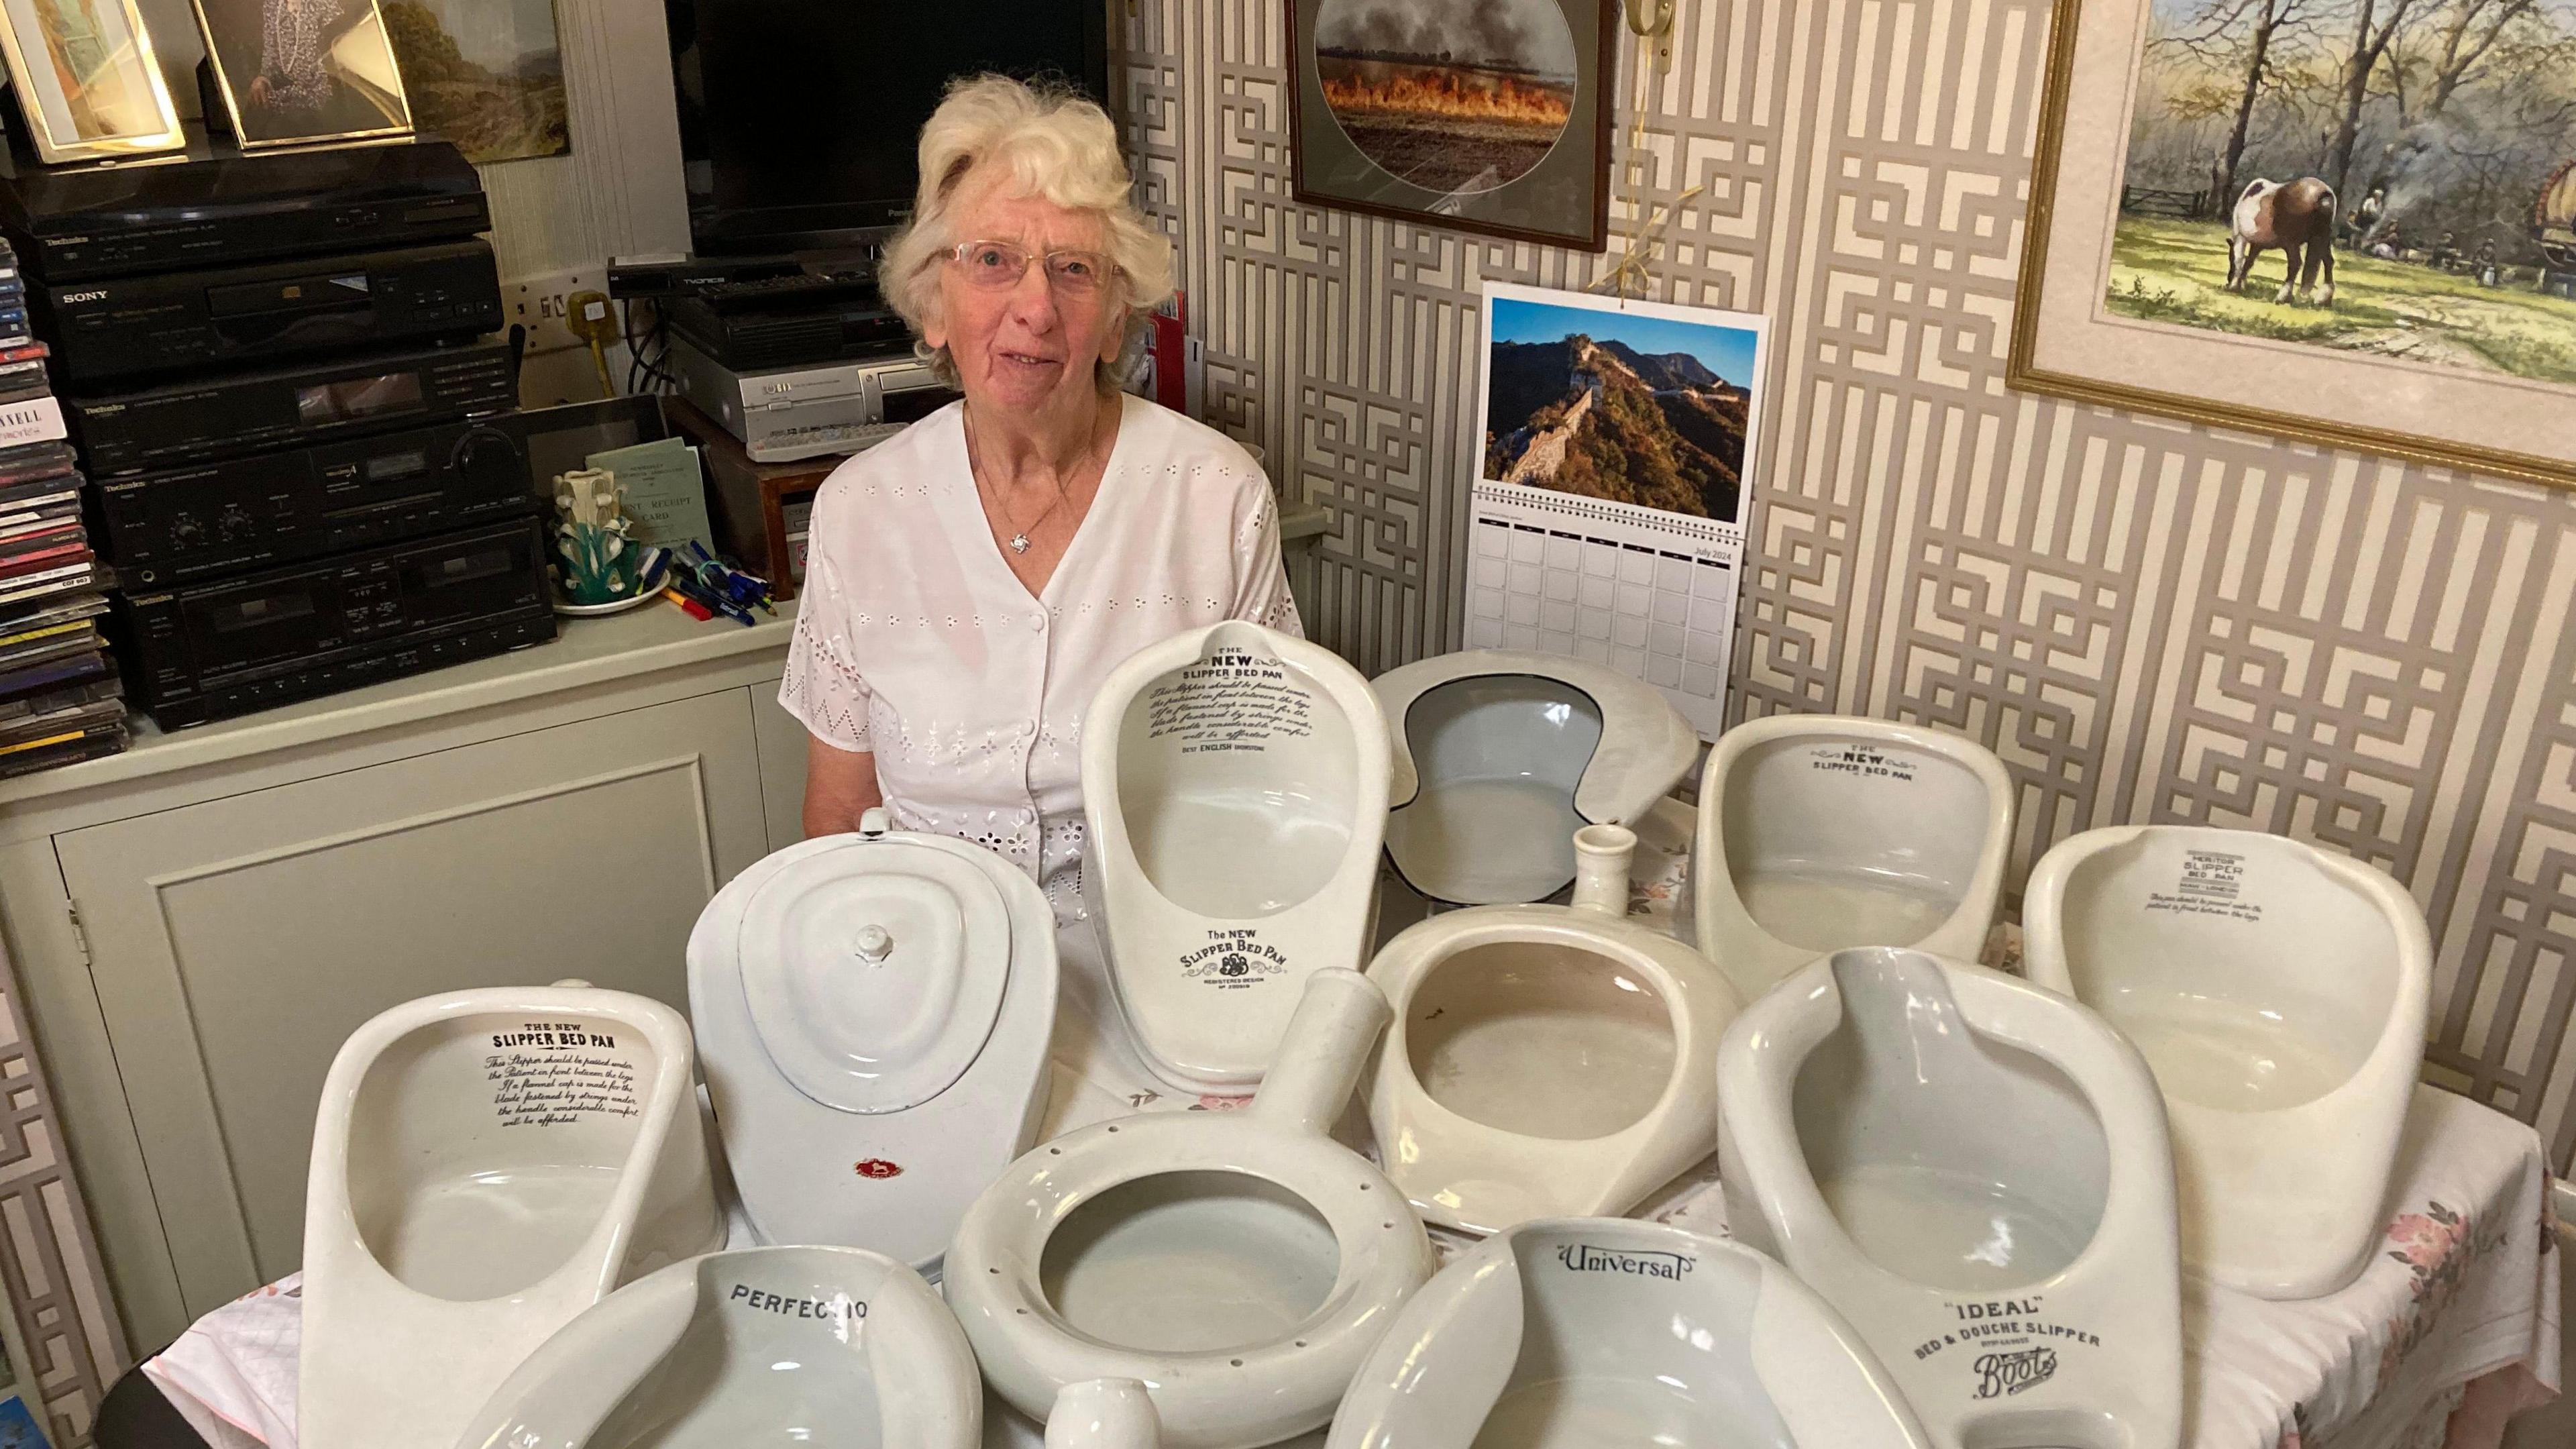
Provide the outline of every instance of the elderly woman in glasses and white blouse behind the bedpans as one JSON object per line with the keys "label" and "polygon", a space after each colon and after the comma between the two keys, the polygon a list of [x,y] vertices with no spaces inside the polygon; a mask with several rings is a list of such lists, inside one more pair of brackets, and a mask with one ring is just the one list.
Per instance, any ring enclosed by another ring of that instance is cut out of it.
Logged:
{"label": "elderly woman in glasses and white blouse behind the bedpans", "polygon": [[1296,632],[1278,516],[1242,446],[1126,397],[1172,291],[1110,119],[979,77],[922,126],[886,299],[966,400],[842,464],[814,503],[778,701],[811,732],[804,825],[976,841],[1056,910],[1066,998],[1105,1018],[1082,910],[1082,712],[1131,652],[1224,619]]}

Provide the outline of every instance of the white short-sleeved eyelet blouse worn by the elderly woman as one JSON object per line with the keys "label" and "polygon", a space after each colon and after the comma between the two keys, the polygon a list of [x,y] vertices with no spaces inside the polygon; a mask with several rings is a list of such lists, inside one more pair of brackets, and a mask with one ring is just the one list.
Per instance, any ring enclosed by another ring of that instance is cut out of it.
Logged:
{"label": "white short-sleeved eyelet blouse worn by the elderly woman", "polygon": [[[814,498],[778,704],[871,750],[896,830],[974,841],[1082,910],[1082,712],[1136,650],[1224,619],[1301,634],[1260,464],[1224,433],[1123,400],[1100,495],[1046,580],[1010,572],[966,464],[963,405],[840,464]],[[1066,980],[1079,995],[1092,982]],[[1097,1000],[1097,998],[1095,998]]]}

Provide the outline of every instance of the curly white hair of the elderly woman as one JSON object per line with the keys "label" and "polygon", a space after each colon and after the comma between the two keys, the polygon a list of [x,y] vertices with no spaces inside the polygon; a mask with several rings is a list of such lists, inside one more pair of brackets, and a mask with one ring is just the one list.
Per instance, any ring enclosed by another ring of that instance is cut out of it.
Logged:
{"label": "curly white hair of the elderly woman", "polygon": [[1126,353],[1115,366],[1097,366],[1100,387],[1113,389],[1144,343],[1154,307],[1172,294],[1172,242],[1128,199],[1133,183],[1108,111],[1077,90],[1033,88],[1007,75],[961,77],[922,124],[920,160],[922,191],[912,222],[886,242],[878,291],[912,325],[922,361],[956,384],[948,348],[920,338],[940,307],[938,263],[974,240],[953,232],[951,204],[966,175],[1005,168],[1010,196],[1043,196],[1066,211],[1090,211],[1108,232],[1105,250],[1118,276],[1113,302],[1128,309]]}

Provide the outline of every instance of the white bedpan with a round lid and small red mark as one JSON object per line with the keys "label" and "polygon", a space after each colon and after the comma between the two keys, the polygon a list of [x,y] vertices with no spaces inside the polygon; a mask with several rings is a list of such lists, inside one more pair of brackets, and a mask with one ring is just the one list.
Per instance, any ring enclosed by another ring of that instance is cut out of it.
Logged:
{"label": "white bedpan with a round lid and small red mark", "polygon": [[1056,920],[1002,856],[871,810],[716,892],[688,1003],[760,1240],[935,1274],[1046,1109]]}

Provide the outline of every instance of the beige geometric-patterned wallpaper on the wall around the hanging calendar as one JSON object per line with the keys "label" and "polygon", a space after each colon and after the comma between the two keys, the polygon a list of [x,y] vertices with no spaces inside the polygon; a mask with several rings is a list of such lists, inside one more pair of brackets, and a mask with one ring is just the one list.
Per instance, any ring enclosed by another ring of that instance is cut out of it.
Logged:
{"label": "beige geometric-patterned wallpaper on the wall around the hanging calendar", "polygon": [[[2280,830],[2391,871],[2427,1078],[2576,1171],[2576,492],[2004,387],[2045,0],[1690,0],[1623,186],[1651,297],[1765,312],[1731,717],[1919,719],[2020,786],[2014,882],[2094,825]],[[1306,627],[1455,647],[1486,281],[1602,258],[1298,206],[1280,0],[1131,0],[1126,108],[1211,423],[1324,505]],[[1638,186],[1641,183],[1641,186]]]}

